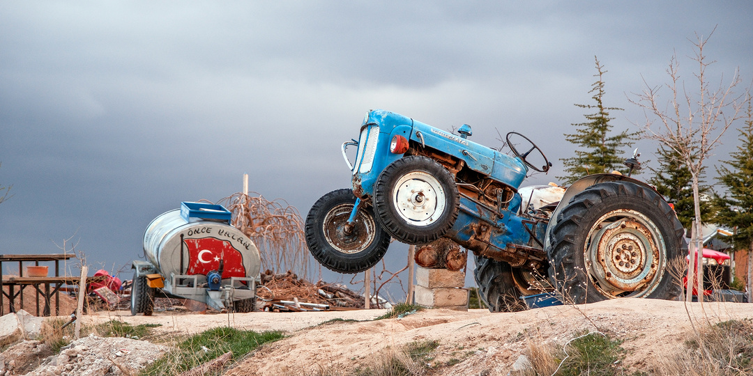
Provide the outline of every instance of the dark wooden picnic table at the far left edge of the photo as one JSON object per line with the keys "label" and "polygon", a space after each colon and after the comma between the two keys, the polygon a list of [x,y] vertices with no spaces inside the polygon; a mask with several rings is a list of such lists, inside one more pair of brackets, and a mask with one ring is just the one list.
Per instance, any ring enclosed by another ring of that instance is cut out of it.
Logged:
{"label": "dark wooden picnic table at the far left edge of the photo", "polygon": [[[19,297],[20,304],[23,306],[23,289],[29,286],[34,287],[37,291],[36,308],[37,316],[40,314],[39,310],[39,296],[44,297],[44,308],[42,314],[44,316],[50,316],[50,300],[55,296],[55,315],[60,314],[60,301],[59,291],[64,285],[78,285],[81,283],[80,277],[72,276],[60,276],[59,275],[59,262],[62,260],[75,258],[75,255],[69,253],[51,253],[51,254],[28,254],[28,255],[0,255],[0,315],[5,314],[5,307],[3,305],[3,299],[8,298],[8,309],[11,312],[15,312],[14,305],[15,299]],[[2,263],[3,262],[18,262],[18,277],[6,277],[2,275]],[[26,277],[23,275],[23,264],[34,263],[33,265],[39,265],[39,262],[55,262],[54,276],[48,277]],[[103,280],[104,277],[87,277],[87,284],[93,281]],[[44,284],[44,291],[40,287]],[[53,287],[50,290],[50,285]],[[5,292],[4,286],[8,286],[8,293]],[[18,287],[18,292],[15,291],[15,287]],[[84,287],[84,290],[86,287]],[[84,291],[81,290],[81,291]],[[69,314],[66,312],[66,314]]]}

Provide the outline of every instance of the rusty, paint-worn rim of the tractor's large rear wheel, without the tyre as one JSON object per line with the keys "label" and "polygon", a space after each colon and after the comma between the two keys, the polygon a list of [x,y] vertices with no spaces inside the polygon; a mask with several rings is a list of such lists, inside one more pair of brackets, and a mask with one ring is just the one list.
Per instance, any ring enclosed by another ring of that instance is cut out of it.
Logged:
{"label": "rusty, paint-worn rim of the tractor's large rear wheel, without the tyre", "polygon": [[638,211],[620,209],[591,227],[584,261],[593,286],[605,296],[648,296],[661,279],[666,246],[653,221]]}

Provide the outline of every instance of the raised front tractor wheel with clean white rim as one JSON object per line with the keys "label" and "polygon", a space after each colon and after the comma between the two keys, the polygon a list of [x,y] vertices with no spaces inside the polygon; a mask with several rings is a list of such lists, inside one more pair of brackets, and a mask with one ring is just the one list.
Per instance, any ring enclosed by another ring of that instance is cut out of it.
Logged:
{"label": "raised front tractor wheel with clean white rim", "polygon": [[406,156],[379,175],[373,202],[378,220],[392,238],[425,244],[452,229],[460,198],[447,168],[425,156]]}

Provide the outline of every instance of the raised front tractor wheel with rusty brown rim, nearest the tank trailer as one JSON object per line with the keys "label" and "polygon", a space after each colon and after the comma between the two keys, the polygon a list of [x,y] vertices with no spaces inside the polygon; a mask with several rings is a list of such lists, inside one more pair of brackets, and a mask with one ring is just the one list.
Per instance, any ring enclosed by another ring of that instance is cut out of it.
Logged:
{"label": "raised front tractor wheel with rusty brown rim, nearest the tank trailer", "polygon": [[389,234],[367,205],[358,208],[353,226],[346,226],[353,205],[352,190],[335,190],[322,196],[306,217],[309,251],[326,268],[339,273],[367,270],[382,259],[389,247]]}

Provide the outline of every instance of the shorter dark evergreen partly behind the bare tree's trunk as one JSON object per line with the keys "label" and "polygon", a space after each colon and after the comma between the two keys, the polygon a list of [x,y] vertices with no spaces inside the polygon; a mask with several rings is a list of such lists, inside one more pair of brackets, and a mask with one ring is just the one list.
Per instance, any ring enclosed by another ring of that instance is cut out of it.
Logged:
{"label": "shorter dark evergreen partly behind the bare tree's trunk", "polygon": [[[654,176],[648,183],[656,187],[658,193],[664,196],[667,202],[675,206],[677,217],[685,229],[690,229],[695,217],[693,200],[693,175],[687,165],[681,160],[681,156],[675,150],[667,149],[661,144],[657,150],[659,168],[649,168]],[[703,168],[702,168],[703,174]],[[711,193],[709,186],[703,184],[700,179],[698,191],[701,195],[708,196]],[[714,208],[711,202],[702,200],[701,220],[706,222],[714,217]]]}

